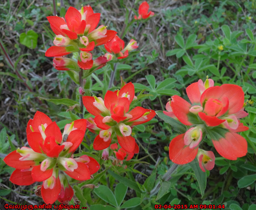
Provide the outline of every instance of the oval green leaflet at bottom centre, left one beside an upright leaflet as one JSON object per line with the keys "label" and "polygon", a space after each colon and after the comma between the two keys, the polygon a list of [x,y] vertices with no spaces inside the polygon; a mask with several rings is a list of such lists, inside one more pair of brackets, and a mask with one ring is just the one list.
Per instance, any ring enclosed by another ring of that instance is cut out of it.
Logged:
{"label": "oval green leaflet at bottom centre, left one beside an upright leaflet", "polygon": [[98,197],[106,201],[108,204],[116,207],[119,206],[113,192],[107,186],[100,185],[98,188],[94,188],[94,192]]}

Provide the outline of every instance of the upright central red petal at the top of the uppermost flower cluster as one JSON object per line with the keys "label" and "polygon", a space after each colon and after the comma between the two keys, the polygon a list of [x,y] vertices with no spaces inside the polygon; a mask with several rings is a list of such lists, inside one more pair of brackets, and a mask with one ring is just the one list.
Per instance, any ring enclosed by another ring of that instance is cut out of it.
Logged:
{"label": "upright central red petal at the top of the uppermost flower cluster", "polygon": [[65,14],[65,19],[69,30],[76,31],[81,23],[81,13],[76,8],[70,6]]}

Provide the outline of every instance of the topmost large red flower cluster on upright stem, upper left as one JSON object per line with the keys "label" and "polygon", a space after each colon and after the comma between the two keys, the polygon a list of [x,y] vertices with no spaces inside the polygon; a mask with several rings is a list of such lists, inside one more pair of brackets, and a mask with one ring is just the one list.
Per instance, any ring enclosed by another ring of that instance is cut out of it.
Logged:
{"label": "topmost large red flower cluster on upright stem, upper left", "polygon": [[[94,46],[106,44],[114,38],[116,31],[107,30],[106,26],[97,25],[100,21],[100,13],[94,13],[88,6],[77,10],[74,7],[68,8],[65,19],[58,16],[47,17],[50,26],[56,34],[54,45],[50,47],[45,55],[54,58],[54,68],[57,70],[77,70],[78,66],[82,69],[97,68],[97,64],[106,64],[106,58],[99,57],[95,63],[92,60],[90,51]],[[80,57],[76,61],[61,56],[71,52],[80,51]]]}

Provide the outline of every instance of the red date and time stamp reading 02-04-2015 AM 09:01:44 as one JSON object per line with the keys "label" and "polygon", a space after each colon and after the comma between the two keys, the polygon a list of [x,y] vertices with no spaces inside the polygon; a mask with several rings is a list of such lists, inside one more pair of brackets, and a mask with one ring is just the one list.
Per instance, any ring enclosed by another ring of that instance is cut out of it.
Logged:
{"label": "red date and time stamp reading 02-04-2015 AM 09:01:44", "polygon": [[191,205],[181,205],[181,204],[174,204],[172,205],[161,205],[161,204],[156,204],[155,209],[224,209],[225,205],[224,204],[191,204]]}

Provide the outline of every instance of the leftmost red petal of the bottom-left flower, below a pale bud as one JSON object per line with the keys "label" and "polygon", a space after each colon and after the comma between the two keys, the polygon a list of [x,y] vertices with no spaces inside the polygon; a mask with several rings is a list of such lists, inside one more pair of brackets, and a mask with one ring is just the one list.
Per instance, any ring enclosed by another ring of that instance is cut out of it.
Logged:
{"label": "leftmost red petal of the bottom-left flower, below a pale bud", "polygon": [[36,164],[33,160],[19,160],[22,156],[15,151],[11,152],[4,158],[4,162],[13,168],[28,169],[34,167]]}

